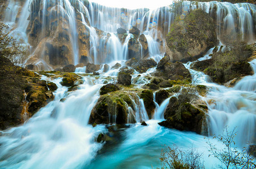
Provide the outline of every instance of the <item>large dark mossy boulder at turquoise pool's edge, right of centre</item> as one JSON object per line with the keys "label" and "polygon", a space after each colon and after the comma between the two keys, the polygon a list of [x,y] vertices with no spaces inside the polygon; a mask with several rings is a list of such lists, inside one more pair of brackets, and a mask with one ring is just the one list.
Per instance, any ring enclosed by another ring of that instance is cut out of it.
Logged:
{"label": "large dark mossy boulder at turquoise pool's edge, right of centre", "polygon": [[181,97],[171,97],[167,109],[164,112],[166,121],[160,122],[160,126],[176,128],[181,131],[194,131],[197,134],[206,135],[206,105],[195,105],[183,101]]}

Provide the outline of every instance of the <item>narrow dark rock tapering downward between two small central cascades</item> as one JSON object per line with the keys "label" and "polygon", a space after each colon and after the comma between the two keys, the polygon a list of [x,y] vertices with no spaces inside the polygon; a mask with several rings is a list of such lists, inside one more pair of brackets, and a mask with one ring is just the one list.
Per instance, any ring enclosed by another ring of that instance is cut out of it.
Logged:
{"label": "narrow dark rock tapering downward between two small central cascades", "polygon": [[153,103],[153,92],[151,90],[143,90],[139,97],[140,99],[143,99],[148,117],[151,119],[153,110],[156,108],[155,104]]}

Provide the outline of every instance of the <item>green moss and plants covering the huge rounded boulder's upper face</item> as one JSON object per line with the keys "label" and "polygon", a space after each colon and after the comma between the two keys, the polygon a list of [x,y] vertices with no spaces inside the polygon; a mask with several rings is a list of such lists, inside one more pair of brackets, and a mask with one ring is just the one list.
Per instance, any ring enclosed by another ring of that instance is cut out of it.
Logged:
{"label": "green moss and plants covering the huge rounded boulder's upper face", "polygon": [[[178,3],[182,3],[179,1]],[[174,23],[170,26],[167,35],[167,45],[172,50],[178,52],[187,52],[187,48],[197,41],[199,43],[206,42],[208,46],[213,46],[214,36],[211,37],[208,32],[215,32],[215,26],[212,19],[201,9],[178,12]],[[189,54],[190,55],[190,54]]]}

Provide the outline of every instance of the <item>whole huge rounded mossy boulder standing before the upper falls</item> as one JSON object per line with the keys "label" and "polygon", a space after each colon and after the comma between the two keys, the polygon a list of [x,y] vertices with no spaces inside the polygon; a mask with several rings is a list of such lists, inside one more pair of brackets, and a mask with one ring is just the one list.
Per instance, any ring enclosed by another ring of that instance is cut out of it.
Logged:
{"label": "whole huge rounded mossy boulder standing before the upper falls", "polygon": [[195,60],[216,45],[215,24],[209,14],[193,10],[184,20],[179,18],[170,26],[166,38],[172,62]]}

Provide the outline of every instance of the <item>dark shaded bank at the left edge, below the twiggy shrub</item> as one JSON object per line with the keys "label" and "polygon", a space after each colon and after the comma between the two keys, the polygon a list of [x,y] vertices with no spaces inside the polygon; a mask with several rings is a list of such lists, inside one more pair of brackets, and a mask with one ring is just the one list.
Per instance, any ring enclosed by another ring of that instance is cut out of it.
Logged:
{"label": "dark shaded bank at the left edge, below the twiggy shrub", "polygon": [[25,82],[21,73],[16,74],[16,66],[3,56],[0,56],[0,68],[0,130],[4,130],[21,122]]}

